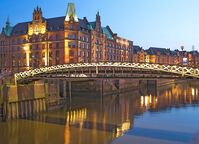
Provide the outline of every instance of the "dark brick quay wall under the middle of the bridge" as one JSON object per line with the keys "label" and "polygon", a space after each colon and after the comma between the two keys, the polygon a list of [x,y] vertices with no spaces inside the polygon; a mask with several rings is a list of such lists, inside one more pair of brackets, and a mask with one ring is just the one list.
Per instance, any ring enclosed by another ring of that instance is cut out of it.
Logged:
{"label": "dark brick quay wall under the middle of the bridge", "polygon": [[156,85],[155,80],[133,80],[133,79],[120,79],[120,80],[97,80],[97,81],[82,81],[72,82],[72,94],[100,94],[109,95],[118,92],[128,92],[146,87],[147,84]]}

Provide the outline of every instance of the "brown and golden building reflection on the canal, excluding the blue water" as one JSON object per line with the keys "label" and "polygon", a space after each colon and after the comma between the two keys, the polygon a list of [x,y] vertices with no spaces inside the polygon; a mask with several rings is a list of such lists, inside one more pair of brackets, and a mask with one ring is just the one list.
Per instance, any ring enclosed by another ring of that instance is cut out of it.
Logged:
{"label": "brown and golden building reflection on the canal, excluding the blue water", "polygon": [[198,107],[198,88],[199,83],[192,82],[103,97],[74,95],[61,110],[0,123],[0,143],[108,144],[133,129],[145,112]]}

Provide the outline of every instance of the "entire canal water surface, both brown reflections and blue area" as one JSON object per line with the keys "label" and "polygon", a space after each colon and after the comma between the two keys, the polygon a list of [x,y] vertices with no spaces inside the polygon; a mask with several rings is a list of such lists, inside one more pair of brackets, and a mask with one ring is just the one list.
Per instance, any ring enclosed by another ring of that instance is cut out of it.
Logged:
{"label": "entire canal water surface, both brown reflections and blue area", "polygon": [[64,108],[0,122],[0,144],[199,144],[199,83],[114,95],[79,93]]}

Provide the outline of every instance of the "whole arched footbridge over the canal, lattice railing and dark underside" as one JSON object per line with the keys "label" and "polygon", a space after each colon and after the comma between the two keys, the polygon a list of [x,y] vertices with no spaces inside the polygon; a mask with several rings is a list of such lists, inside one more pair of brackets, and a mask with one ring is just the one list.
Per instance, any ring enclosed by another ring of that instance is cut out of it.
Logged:
{"label": "whole arched footbridge over the canal, lattice railing and dark underside", "polygon": [[42,78],[199,78],[199,69],[146,63],[77,63],[37,68],[15,74],[15,81]]}

